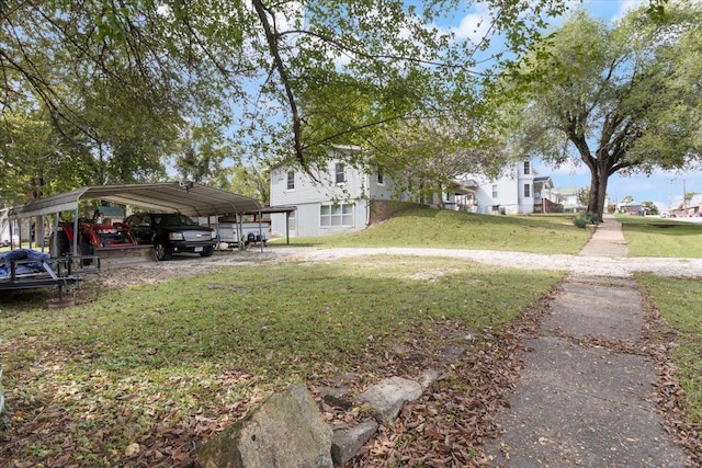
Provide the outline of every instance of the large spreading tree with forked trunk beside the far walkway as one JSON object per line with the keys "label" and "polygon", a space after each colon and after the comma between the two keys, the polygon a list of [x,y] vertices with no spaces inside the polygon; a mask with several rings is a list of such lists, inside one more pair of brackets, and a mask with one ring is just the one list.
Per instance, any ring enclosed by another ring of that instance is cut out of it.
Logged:
{"label": "large spreading tree with forked trunk beside the far walkway", "polygon": [[525,102],[520,147],[585,163],[600,220],[610,175],[700,157],[701,10],[671,2],[659,21],[638,10],[611,28],[579,12],[523,61],[528,83],[512,89]]}

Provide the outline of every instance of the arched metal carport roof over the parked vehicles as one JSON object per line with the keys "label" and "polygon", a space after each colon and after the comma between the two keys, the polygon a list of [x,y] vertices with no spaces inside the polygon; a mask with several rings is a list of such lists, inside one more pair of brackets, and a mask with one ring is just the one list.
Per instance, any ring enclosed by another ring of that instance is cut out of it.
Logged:
{"label": "arched metal carport roof over the parked vehicles", "polygon": [[98,185],[77,189],[30,202],[10,209],[12,218],[29,218],[78,209],[78,202],[105,202],[139,206],[159,212],[180,212],[185,216],[217,216],[241,212],[258,212],[253,198],[191,182],[151,184]]}

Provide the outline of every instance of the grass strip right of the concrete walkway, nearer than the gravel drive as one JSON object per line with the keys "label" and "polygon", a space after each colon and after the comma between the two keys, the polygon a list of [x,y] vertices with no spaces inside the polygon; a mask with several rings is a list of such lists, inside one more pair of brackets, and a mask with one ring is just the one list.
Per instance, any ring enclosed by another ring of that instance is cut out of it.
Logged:
{"label": "grass strip right of the concrete walkway, nearer than the gravel drive", "polygon": [[702,427],[702,317],[700,316],[700,278],[661,278],[637,275],[665,319],[658,340],[675,343],[670,351],[684,390],[684,409],[689,423]]}

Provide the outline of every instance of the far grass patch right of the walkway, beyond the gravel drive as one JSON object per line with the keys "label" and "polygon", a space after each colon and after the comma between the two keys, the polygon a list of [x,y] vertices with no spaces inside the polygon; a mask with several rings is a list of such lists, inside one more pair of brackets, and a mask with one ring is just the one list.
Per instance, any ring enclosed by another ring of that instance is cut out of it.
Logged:
{"label": "far grass patch right of the walkway, beyond the gravel drive", "polygon": [[702,224],[620,216],[630,256],[702,258]]}

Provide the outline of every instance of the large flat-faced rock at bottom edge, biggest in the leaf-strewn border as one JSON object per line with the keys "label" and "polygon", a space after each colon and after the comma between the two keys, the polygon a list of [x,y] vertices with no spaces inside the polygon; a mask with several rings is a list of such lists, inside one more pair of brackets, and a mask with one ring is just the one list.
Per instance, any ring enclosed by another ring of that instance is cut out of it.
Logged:
{"label": "large flat-faced rock at bottom edge, biggest in the leaf-strewn border", "polygon": [[293,385],[203,445],[203,468],[332,468],[331,427]]}

